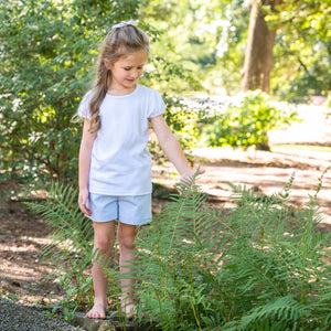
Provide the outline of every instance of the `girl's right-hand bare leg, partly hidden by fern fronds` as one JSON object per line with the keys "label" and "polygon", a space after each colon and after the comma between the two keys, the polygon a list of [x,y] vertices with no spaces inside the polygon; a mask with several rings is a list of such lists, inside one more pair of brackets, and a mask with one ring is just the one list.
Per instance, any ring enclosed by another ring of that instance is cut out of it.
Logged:
{"label": "girl's right-hand bare leg, partly hidden by fern fronds", "polygon": [[[137,234],[137,226],[125,223],[119,223],[117,239],[119,245],[119,267],[120,274],[131,273],[134,269],[130,268],[128,260],[135,260],[135,238]],[[122,311],[127,314],[127,318],[132,318],[136,312],[136,306],[134,305],[134,292],[135,292],[135,279],[121,279],[122,295],[121,295],[121,307]]]}

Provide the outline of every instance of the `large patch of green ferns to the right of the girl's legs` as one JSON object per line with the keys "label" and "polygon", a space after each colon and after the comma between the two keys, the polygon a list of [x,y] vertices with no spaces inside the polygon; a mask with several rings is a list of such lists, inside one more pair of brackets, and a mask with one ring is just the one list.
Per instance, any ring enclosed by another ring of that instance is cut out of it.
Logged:
{"label": "large patch of green ferns to the right of the girl's legs", "polygon": [[[206,207],[199,190],[190,191],[192,181],[184,183],[189,188],[173,195],[151,226],[139,233],[138,296],[146,298],[143,309],[153,311],[163,330],[171,330],[162,313],[166,308],[177,330],[325,325],[325,236],[309,226],[302,267],[307,227],[296,222],[309,222],[309,214],[293,213],[288,205],[293,179],[271,196],[233,186],[236,207],[218,214]],[[316,209],[313,217],[314,213]],[[186,329],[181,328],[183,321]]]}

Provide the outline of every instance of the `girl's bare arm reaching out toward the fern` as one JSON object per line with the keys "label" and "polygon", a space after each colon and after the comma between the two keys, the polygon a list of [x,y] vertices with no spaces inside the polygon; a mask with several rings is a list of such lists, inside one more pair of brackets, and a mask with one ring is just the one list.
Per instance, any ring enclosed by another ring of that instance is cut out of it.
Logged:
{"label": "girl's bare arm reaching out toward the fern", "polygon": [[[153,117],[150,119],[150,122],[158,137],[161,148],[178,170],[181,179],[193,175],[195,173],[195,170],[190,167],[190,163],[188,162],[181,146],[172,135],[163,116],[159,115],[157,117]],[[200,170],[199,173],[204,173],[204,170]]]}

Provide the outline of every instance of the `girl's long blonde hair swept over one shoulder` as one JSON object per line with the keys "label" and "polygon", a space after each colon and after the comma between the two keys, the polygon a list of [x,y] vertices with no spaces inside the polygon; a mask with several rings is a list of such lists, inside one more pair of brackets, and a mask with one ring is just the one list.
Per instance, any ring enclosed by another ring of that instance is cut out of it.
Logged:
{"label": "girl's long blonde hair swept over one shoulder", "polygon": [[141,50],[147,55],[149,54],[149,38],[135,25],[111,29],[105,38],[98,56],[94,93],[89,103],[92,115],[89,131],[92,134],[97,132],[100,128],[99,107],[111,84],[111,71],[106,67],[105,60],[111,66],[121,56]]}

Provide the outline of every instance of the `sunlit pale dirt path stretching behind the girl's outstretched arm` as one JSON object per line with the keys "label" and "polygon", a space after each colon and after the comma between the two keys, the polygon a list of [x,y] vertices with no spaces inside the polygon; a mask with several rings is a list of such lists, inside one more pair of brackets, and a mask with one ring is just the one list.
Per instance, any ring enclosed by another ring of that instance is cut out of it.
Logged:
{"label": "sunlit pale dirt path stretching behind the girl's outstretched arm", "polygon": [[[296,154],[298,153],[298,154]],[[280,192],[292,174],[295,181],[291,189],[291,203],[302,207],[309,201],[309,194],[314,194],[327,167],[329,153],[302,156],[302,151],[287,150],[286,152],[242,151],[229,148],[196,149],[196,163],[205,173],[197,183],[203,191],[213,195],[214,207],[232,206],[229,197],[233,193],[228,182],[235,185],[246,185],[270,196]],[[171,185],[177,177],[171,164],[156,166],[154,178],[159,183]],[[318,201],[323,215],[322,227],[331,229],[331,169],[324,174],[322,189]]]}

